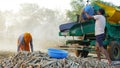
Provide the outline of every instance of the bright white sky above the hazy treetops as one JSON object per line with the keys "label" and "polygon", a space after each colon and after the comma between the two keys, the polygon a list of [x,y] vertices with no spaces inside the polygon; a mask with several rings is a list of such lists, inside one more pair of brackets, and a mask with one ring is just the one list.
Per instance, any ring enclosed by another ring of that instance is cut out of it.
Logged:
{"label": "bright white sky above the hazy treetops", "polygon": [[[0,0],[0,10],[18,11],[22,3],[37,3],[39,6],[49,9],[66,10],[71,8],[70,1],[71,0]],[[120,0],[104,1],[120,5]]]}

